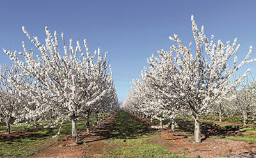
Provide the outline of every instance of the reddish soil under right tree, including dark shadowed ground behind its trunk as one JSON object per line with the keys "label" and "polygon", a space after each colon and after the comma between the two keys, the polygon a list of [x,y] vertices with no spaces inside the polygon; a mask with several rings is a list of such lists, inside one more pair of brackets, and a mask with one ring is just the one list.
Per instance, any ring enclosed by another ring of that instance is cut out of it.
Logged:
{"label": "reddish soil under right tree, including dark shadowed ground behind its trunk", "polygon": [[[141,119],[145,122],[149,120]],[[204,120],[205,121],[205,120]],[[222,122],[221,122],[222,123]],[[225,122],[228,124],[228,122]],[[189,157],[256,157],[256,145],[249,144],[245,141],[228,140],[225,138],[214,139],[211,136],[243,136],[256,134],[239,131],[236,124],[230,123],[230,126],[237,127],[220,127],[214,124],[202,124],[202,143],[193,142],[193,123],[179,121],[179,129],[174,131],[170,129],[158,130],[160,135],[154,135],[154,142],[168,148],[171,152]],[[241,124],[239,124],[241,126]],[[253,126],[252,126],[253,127]]]}

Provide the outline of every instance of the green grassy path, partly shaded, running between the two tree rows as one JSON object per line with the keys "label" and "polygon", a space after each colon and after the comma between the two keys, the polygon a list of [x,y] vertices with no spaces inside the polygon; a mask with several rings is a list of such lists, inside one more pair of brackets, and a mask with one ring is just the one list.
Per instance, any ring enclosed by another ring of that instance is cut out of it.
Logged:
{"label": "green grassy path, partly shaded, running between the two tree rows", "polygon": [[111,148],[103,157],[174,157],[167,148],[154,143],[153,136],[159,133],[124,111],[116,115],[111,133],[113,137],[105,141]]}

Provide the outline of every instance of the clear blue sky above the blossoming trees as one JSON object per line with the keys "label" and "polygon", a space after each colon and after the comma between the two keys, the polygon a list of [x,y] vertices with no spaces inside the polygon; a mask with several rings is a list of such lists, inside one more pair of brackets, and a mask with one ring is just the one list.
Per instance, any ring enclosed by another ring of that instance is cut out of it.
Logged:
{"label": "clear blue sky above the blossoming trees", "polygon": [[59,35],[64,32],[66,38],[86,38],[91,51],[100,47],[109,52],[120,101],[152,52],[168,50],[173,44],[168,36],[177,33],[184,43],[193,41],[191,14],[198,25],[205,26],[205,34],[222,41],[237,37],[240,61],[250,45],[256,57],[256,1],[44,0],[1,1],[0,6],[0,64],[10,64],[3,48],[21,51],[21,41],[29,43],[22,25],[40,39],[45,38],[47,25]]}

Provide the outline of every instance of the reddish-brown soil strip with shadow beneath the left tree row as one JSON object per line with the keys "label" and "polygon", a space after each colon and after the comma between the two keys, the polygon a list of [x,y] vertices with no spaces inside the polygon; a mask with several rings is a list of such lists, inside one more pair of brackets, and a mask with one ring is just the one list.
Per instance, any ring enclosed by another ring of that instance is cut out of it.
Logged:
{"label": "reddish-brown soil strip with shadow beneath the left tree row", "polygon": [[115,117],[109,117],[102,126],[94,128],[90,134],[78,133],[79,141],[84,143],[76,145],[72,143],[71,136],[66,136],[31,157],[82,157],[83,155],[101,157],[102,154],[108,152],[108,148],[113,148],[101,140],[108,139],[109,127],[111,127],[114,119]]}

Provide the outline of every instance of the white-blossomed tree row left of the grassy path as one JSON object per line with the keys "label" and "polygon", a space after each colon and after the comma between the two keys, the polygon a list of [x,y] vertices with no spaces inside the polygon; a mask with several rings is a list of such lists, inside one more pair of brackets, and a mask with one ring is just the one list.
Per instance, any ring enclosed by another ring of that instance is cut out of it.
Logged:
{"label": "white-blossomed tree row left of the grassy path", "polygon": [[[86,39],[85,51],[79,41],[73,47],[67,45],[61,33],[63,52],[56,31],[51,34],[45,27],[45,45],[38,37],[31,37],[22,27],[28,39],[39,52],[28,50],[22,42],[23,51],[4,50],[13,61],[12,68],[4,66],[0,82],[0,112],[6,118],[10,133],[10,117],[16,122],[42,119],[68,119],[72,121],[72,139],[77,143],[77,119],[99,113],[114,113],[118,110],[118,98],[113,83],[107,53],[100,49],[90,54]],[[24,57],[22,59],[21,57]]]}

